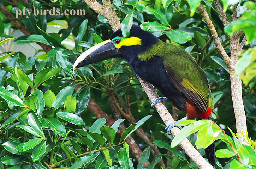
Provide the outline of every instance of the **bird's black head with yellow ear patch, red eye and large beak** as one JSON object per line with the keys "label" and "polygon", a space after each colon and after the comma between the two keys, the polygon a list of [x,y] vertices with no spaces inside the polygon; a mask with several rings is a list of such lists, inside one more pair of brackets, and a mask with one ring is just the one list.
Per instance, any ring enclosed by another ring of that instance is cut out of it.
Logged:
{"label": "bird's black head with yellow ear patch, red eye and large beak", "polygon": [[112,57],[121,57],[126,61],[135,60],[138,54],[148,50],[157,39],[152,33],[143,31],[139,26],[132,26],[129,37],[122,36],[121,29],[115,31],[109,40],[101,42],[83,52],[75,61],[73,71],[91,63]]}

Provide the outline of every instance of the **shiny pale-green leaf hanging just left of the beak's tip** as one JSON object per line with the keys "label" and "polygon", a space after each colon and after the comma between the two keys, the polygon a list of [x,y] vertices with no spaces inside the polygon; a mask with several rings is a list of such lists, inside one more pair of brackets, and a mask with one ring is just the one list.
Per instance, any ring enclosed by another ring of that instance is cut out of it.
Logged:
{"label": "shiny pale-green leaf hanging just left of the beak's tip", "polygon": [[64,55],[62,51],[56,51],[56,61],[63,68],[63,71],[71,76],[71,64],[67,55]]}

